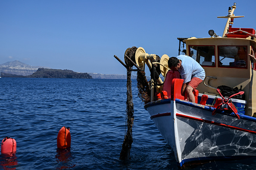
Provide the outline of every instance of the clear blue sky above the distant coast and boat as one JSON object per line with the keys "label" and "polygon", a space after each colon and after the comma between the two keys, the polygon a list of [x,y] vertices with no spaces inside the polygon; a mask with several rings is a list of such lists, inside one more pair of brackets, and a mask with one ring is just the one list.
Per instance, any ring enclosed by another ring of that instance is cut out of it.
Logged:
{"label": "clear blue sky above the distant coast and boat", "polygon": [[126,74],[128,47],[160,57],[178,55],[177,37],[222,36],[228,7],[233,27],[256,29],[255,0],[0,0],[0,64],[84,73]]}

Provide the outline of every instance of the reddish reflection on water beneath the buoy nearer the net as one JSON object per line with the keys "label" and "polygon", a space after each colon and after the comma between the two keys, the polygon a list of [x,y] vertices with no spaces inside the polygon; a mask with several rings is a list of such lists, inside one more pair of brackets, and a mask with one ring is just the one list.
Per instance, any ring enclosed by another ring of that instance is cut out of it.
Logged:
{"label": "reddish reflection on water beneath the buoy nearer the net", "polygon": [[55,158],[57,161],[57,170],[75,167],[75,164],[72,165],[70,163],[73,159],[72,152],[70,152],[70,147],[67,149],[57,149]]}

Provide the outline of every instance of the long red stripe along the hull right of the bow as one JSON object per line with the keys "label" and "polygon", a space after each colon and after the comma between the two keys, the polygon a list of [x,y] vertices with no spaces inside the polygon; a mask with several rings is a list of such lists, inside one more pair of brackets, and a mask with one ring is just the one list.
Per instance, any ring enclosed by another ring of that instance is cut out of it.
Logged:
{"label": "long red stripe along the hull right of the bow", "polygon": [[250,131],[250,130],[247,130],[247,129],[242,129],[240,127],[234,127],[234,126],[230,126],[230,125],[227,125],[227,124],[218,123],[218,122],[215,122],[215,121],[204,120],[202,118],[195,118],[195,117],[192,117],[192,116],[182,115],[182,114],[179,114],[179,113],[176,113],[176,116],[181,117],[181,118],[188,118],[188,119],[195,120],[195,121],[201,121],[201,122],[205,122],[205,123],[209,123],[209,124],[214,124],[214,125],[217,125],[217,126],[227,127],[227,128],[234,129],[234,130],[237,130],[237,131],[248,132],[250,134],[256,134],[255,131]]}

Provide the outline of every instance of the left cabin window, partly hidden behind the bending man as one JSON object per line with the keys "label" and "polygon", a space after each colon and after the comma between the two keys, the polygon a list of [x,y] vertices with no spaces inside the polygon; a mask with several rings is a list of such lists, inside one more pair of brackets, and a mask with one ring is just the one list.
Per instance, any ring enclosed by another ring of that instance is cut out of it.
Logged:
{"label": "left cabin window, partly hidden behind the bending man", "polygon": [[189,46],[189,56],[202,66],[215,66],[215,46]]}

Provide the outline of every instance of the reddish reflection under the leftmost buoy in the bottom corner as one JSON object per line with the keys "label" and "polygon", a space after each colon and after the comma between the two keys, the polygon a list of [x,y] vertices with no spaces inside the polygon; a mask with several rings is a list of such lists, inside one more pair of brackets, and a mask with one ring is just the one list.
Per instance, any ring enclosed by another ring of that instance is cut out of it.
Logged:
{"label": "reddish reflection under the leftmost buoy in the bottom corner", "polygon": [[0,155],[0,169],[4,170],[16,170],[16,165],[18,165],[17,157],[15,154],[10,155]]}

